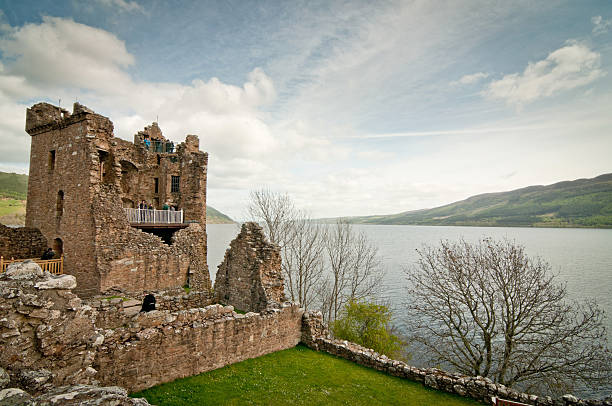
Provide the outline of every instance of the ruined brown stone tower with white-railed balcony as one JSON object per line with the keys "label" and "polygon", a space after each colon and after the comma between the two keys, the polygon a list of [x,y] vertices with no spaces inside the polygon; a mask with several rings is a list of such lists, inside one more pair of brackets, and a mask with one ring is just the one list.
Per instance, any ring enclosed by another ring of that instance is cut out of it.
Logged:
{"label": "ruined brown stone tower with white-railed balcony", "polygon": [[[26,225],[64,255],[64,272],[76,276],[79,294],[186,284],[210,291],[208,154],[196,136],[175,147],[153,123],[131,143],[114,137],[108,118],[78,103],[72,114],[35,104],[26,132],[32,140]],[[163,221],[168,214],[153,210],[158,221],[145,223],[140,212],[130,217],[142,200],[155,209],[168,204],[182,217]]]}

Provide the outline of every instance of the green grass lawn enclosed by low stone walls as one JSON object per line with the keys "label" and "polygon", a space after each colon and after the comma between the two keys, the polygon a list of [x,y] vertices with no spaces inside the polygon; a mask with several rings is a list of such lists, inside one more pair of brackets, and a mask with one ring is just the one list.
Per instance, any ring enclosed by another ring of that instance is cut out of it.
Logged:
{"label": "green grass lawn enclosed by low stone walls", "polygon": [[304,346],[177,379],[132,397],[162,405],[480,405]]}

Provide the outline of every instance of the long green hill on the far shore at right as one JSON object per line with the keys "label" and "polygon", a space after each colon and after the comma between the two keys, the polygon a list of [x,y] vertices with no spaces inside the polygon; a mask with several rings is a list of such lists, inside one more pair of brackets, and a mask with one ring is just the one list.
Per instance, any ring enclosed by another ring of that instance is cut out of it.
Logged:
{"label": "long green hill on the far shore at right", "polygon": [[612,173],[485,193],[434,209],[348,220],[360,224],[612,228]]}

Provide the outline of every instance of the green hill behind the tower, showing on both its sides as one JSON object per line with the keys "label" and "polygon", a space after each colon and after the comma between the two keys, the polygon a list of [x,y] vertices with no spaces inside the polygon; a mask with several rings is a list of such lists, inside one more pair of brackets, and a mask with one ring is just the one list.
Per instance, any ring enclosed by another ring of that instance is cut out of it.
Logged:
{"label": "green hill behind the tower, showing on both its sides", "polygon": [[[28,195],[28,175],[0,172],[0,223],[23,225],[25,200]],[[234,220],[213,207],[206,206],[206,222],[234,223]]]}

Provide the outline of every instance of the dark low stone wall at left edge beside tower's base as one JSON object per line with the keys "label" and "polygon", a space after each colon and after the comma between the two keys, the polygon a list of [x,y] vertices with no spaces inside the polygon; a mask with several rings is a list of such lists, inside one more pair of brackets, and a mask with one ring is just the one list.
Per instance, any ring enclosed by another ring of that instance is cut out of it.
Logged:
{"label": "dark low stone wall at left edge beside tower's base", "polygon": [[0,224],[0,256],[4,259],[40,258],[47,239],[35,228],[10,228]]}

